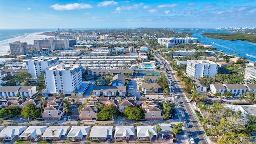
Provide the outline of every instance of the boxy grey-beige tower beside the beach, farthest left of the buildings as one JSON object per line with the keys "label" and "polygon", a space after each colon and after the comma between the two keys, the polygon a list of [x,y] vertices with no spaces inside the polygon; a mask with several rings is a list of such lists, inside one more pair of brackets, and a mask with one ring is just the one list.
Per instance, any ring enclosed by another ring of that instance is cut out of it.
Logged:
{"label": "boxy grey-beige tower beside the beach, farthest left of the buildings", "polygon": [[12,42],[9,43],[11,54],[28,54],[28,46],[26,42]]}

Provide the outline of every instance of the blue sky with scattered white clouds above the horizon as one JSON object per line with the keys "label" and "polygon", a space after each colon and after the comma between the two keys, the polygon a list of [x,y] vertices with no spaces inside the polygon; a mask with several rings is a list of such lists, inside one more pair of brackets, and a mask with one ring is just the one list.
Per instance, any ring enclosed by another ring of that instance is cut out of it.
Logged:
{"label": "blue sky with scattered white clouds above the horizon", "polygon": [[0,0],[0,28],[256,27],[256,0]]}

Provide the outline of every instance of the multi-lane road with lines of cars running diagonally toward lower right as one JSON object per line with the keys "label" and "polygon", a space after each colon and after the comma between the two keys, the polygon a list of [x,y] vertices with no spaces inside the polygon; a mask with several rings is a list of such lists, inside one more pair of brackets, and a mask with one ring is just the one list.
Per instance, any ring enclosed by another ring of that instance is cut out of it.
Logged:
{"label": "multi-lane road with lines of cars running diagonally toward lower right", "polygon": [[[202,125],[200,124],[198,118],[196,117],[196,114],[194,113],[194,109],[190,106],[190,103],[186,99],[186,96],[184,92],[182,91],[182,88],[180,87],[180,84],[178,83],[176,77],[174,76],[174,73],[172,71],[172,68],[166,62],[164,58],[160,56],[160,54],[155,54],[156,58],[160,60],[160,62],[164,66],[164,70],[166,71],[167,78],[172,81],[172,85],[174,86],[174,92],[172,92],[172,96],[174,97],[174,101],[178,108],[178,102],[180,103],[181,108],[183,109],[186,120],[188,122],[189,128],[186,127],[186,123],[183,122],[183,119],[180,114],[181,122],[184,124],[184,128],[186,132],[191,131],[195,144],[209,144],[209,139],[207,138]],[[166,63],[166,64],[164,64]],[[172,90],[172,88],[170,88]],[[177,96],[178,98],[175,98]],[[187,133],[186,133],[187,134]],[[187,134],[188,140],[190,142],[190,136]],[[191,142],[190,142],[191,143]]]}

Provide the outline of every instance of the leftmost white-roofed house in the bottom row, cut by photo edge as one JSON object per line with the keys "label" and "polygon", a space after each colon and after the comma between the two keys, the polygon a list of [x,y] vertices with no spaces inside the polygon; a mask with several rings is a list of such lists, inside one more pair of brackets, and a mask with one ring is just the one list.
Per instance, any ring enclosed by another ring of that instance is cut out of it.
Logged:
{"label": "leftmost white-roofed house in the bottom row, cut by photo edge", "polygon": [[16,136],[20,136],[27,126],[6,126],[0,132],[0,138],[3,140],[12,140]]}

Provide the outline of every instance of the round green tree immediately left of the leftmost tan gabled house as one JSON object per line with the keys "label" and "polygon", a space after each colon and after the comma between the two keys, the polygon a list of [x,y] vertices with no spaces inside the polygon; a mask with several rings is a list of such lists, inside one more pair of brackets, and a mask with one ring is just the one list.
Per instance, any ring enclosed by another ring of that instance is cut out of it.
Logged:
{"label": "round green tree immediately left of the leftmost tan gabled house", "polygon": [[34,120],[36,118],[41,117],[40,108],[36,108],[34,104],[28,104],[24,108],[22,108],[21,115],[24,118],[33,118]]}

